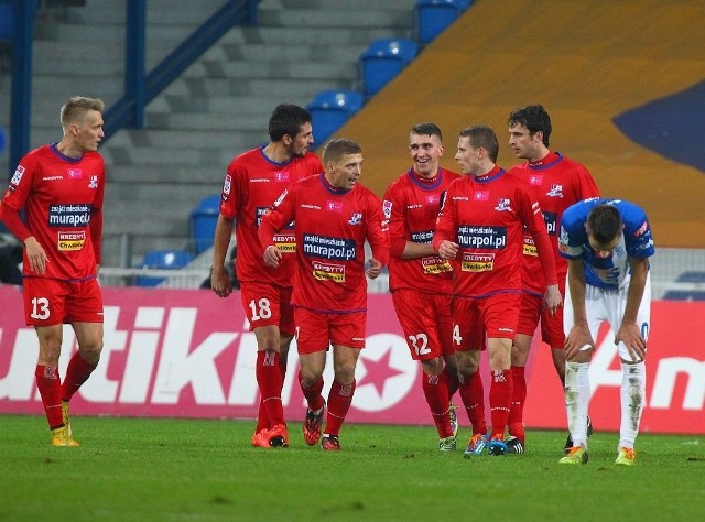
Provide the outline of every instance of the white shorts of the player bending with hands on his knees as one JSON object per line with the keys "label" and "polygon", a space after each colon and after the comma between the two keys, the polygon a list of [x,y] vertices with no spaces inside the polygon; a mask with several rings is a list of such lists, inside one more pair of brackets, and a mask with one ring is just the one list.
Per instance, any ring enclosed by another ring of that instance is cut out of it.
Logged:
{"label": "white shorts of the player bending with hands on his knees", "polygon": [[[604,322],[609,324],[612,335],[619,330],[621,318],[625,315],[625,307],[627,306],[628,292],[628,282],[621,290],[604,290],[590,284],[585,285],[585,314],[587,315],[587,325],[593,340],[597,339],[597,331]],[[644,340],[649,339],[649,329],[651,328],[651,272],[647,274],[647,284],[644,285],[643,296],[637,313],[637,324]],[[566,336],[573,325],[573,302],[571,301],[571,292],[566,287],[563,303],[563,330]],[[619,342],[618,348],[619,357],[630,361],[631,356],[627,346],[623,342]]]}

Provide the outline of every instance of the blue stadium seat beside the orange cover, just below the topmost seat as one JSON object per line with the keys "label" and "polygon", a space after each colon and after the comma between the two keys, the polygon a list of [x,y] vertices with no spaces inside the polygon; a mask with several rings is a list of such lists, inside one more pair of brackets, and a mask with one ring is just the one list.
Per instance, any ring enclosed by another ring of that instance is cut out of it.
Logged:
{"label": "blue stadium seat beside the orange cover, just below the topmost seat", "polygon": [[364,94],[373,96],[416,57],[419,47],[413,40],[379,39],[360,54]]}

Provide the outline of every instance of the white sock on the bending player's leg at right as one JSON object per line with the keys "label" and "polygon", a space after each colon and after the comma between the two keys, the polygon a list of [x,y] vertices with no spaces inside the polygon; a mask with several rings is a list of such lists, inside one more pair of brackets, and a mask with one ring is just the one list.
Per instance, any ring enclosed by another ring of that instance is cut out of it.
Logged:
{"label": "white sock on the bending player's leg at right", "polygon": [[633,449],[647,400],[647,369],[643,361],[636,365],[622,362],[621,371],[619,447]]}

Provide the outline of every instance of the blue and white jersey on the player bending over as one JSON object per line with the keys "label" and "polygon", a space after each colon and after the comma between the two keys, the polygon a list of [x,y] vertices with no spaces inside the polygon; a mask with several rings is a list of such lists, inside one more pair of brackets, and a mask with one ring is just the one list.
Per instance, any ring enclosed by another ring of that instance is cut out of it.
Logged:
{"label": "blue and white jersey on the player bending over", "polygon": [[[585,230],[587,215],[601,204],[617,207],[625,224],[617,247],[606,258],[595,254]],[[563,214],[558,251],[564,258],[583,260],[587,284],[618,290],[629,284],[628,258],[649,258],[654,248],[649,219],[639,206],[622,199],[590,198],[572,205]]]}

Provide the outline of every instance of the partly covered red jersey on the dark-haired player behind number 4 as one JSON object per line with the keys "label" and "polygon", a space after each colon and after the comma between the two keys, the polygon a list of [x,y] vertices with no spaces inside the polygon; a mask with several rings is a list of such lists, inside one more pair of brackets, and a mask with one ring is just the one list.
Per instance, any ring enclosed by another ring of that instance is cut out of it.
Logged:
{"label": "partly covered red jersey on the dark-haired player behind number 4", "polygon": [[[563,211],[571,205],[599,196],[595,180],[583,165],[557,152],[551,152],[538,162],[518,165],[510,172],[527,180],[534,189],[551,238],[558,285],[563,293],[568,264],[558,253],[557,225]],[[521,269],[524,290],[528,293],[543,295],[546,289],[545,279],[541,272],[536,247],[529,233],[524,235],[524,262]]]}

